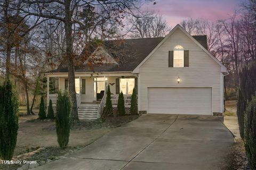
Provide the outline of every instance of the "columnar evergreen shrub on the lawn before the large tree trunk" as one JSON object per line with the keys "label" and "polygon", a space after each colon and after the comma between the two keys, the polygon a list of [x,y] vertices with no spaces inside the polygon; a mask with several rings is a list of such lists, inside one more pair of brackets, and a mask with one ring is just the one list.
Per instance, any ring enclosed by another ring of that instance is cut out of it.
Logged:
{"label": "columnar evergreen shrub on the lawn before the large tree trunk", "polygon": [[67,91],[59,92],[56,103],[56,132],[61,149],[66,148],[70,132],[71,100]]}

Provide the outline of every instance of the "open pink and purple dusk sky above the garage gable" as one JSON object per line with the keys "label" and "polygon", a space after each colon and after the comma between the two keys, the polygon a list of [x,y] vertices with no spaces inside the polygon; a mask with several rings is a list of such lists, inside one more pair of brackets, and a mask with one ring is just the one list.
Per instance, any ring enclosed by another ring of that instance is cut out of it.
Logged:
{"label": "open pink and purple dusk sky above the garage gable", "polygon": [[157,0],[156,4],[143,5],[148,10],[163,15],[171,27],[187,18],[204,18],[210,21],[227,19],[239,9],[243,0]]}

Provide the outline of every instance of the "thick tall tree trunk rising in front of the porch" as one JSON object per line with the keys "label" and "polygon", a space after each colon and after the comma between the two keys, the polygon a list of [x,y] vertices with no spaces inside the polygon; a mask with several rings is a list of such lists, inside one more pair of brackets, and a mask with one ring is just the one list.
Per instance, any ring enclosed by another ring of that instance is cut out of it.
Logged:
{"label": "thick tall tree trunk rising in front of the porch", "polygon": [[75,67],[74,61],[75,54],[73,54],[73,38],[72,38],[72,27],[71,27],[71,12],[70,12],[71,1],[65,1],[65,36],[66,36],[66,53],[68,60],[68,83],[69,83],[69,94],[72,101],[72,111],[71,111],[71,123],[76,123],[78,119],[77,103],[76,103],[76,89],[75,89]]}

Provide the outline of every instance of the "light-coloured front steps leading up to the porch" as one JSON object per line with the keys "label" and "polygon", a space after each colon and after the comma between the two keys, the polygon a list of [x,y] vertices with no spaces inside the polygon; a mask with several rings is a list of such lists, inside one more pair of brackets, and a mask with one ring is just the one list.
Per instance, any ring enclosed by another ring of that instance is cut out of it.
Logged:
{"label": "light-coloured front steps leading up to the porch", "polygon": [[78,108],[79,120],[94,120],[98,118],[98,104],[81,104]]}

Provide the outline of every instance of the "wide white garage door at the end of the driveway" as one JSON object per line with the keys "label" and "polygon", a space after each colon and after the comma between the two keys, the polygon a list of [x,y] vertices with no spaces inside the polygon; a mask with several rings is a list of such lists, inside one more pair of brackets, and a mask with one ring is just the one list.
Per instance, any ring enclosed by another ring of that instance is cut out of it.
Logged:
{"label": "wide white garage door at the end of the driveway", "polygon": [[211,88],[148,88],[148,113],[211,115]]}

